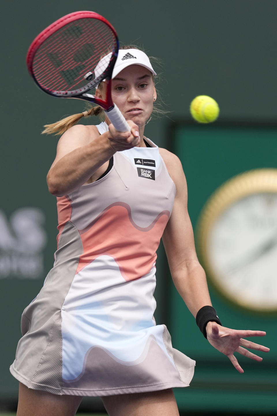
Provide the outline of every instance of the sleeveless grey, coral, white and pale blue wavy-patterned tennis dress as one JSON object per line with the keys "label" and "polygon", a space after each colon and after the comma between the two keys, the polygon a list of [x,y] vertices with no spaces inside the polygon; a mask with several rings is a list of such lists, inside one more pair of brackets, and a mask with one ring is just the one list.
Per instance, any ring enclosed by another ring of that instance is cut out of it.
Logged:
{"label": "sleeveless grey, coral, white and pale blue wavy-patterned tennis dress", "polygon": [[108,396],[186,387],[193,377],[195,361],[172,348],[153,317],[156,250],[176,188],[147,142],[57,198],[54,266],[22,314],[10,366],[31,389]]}

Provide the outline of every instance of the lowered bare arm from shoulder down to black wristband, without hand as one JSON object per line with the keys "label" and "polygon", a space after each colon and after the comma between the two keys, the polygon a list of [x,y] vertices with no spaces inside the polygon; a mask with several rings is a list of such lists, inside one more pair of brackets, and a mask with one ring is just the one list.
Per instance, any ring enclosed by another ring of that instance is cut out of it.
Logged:
{"label": "lowered bare arm from shoulder down to black wristband, without hand", "polygon": [[211,305],[211,299],[206,274],[195,251],[194,235],[187,210],[184,171],[177,156],[167,156],[166,164],[176,186],[176,197],[162,240],[174,285],[190,312],[196,317],[201,307]]}

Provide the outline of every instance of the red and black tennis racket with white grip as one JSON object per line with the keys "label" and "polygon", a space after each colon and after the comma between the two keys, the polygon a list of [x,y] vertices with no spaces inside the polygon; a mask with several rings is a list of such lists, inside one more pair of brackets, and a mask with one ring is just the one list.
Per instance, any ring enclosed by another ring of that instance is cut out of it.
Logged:
{"label": "red and black tennis racket with white grip", "polygon": [[[74,12],[56,20],[34,39],[27,53],[27,67],[36,84],[47,94],[100,105],[116,130],[130,131],[111,97],[111,77],[118,49],[118,36],[108,20],[94,12]],[[112,52],[98,65],[108,50]],[[105,99],[88,93],[104,79]]]}

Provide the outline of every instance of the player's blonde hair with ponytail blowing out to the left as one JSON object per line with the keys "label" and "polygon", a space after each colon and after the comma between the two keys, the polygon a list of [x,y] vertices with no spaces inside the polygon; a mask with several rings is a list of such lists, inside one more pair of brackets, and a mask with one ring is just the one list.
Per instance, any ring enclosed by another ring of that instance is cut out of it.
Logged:
{"label": "player's blonde hair with ponytail blowing out to the left", "polygon": [[[124,45],[124,46],[121,46],[119,49],[123,49],[123,50],[125,50],[125,49],[138,49],[138,50],[143,51],[142,48],[137,47],[135,45]],[[111,52],[111,50],[108,50],[105,54],[103,54],[103,56],[105,56],[109,52]],[[161,64],[159,59],[157,59],[155,57],[149,57],[149,58],[150,58],[150,61],[152,61],[152,62],[154,61],[156,65]],[[153,81],[156,81],[156,79],[158,79],[158,82],[159,82],[160,76],[159,75],[157,75],[156,77],[153,76]],[[101,82],[98,85],[98,89],[101,90],[102,88],[103,88],[103,82]],[[157,88],[156,88],[156,91],[157,91]],[[152,114],[155,114],[156,116],[160,116],[160,115],[165,115],[168,112],[169,111],[165,111],[165,110],[162,109],[161,104],[159,104],[157,102],[153,103]],[[55,134],[55,136],[58,136],[60,134],[64,134],[66,132],[66,130],[70,129],[70,127],[72,127],[76,123],[78,123],[78,121],[80,121],[82,119],[82,117],[86,117],[86,116],[99,116],[101,121],[104,121],[105,120],[105,111],[102,109],[101,106],[93,106],[92,104],[87,103],[86,111],[83,111],[82,113],[78,113],[78,114],[73,114],[72,116],[65,117],[64,119],[56,121],[56,123],[45,124],[44,125],[44,130],[42,131],[42,134]]]}

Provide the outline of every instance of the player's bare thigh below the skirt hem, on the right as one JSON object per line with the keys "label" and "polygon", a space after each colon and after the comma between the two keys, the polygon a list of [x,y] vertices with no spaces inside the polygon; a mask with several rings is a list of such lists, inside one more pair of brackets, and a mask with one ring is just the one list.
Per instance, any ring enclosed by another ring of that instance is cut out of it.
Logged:
{"label": "player's bare thigh below the skirt hem, on the right", "polygon": [[109,416],[179,416],[172,389],[101,397]]}

